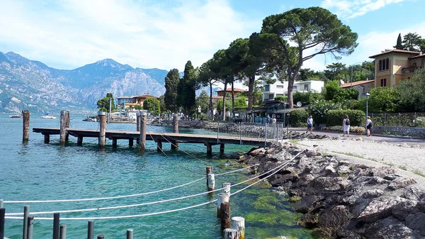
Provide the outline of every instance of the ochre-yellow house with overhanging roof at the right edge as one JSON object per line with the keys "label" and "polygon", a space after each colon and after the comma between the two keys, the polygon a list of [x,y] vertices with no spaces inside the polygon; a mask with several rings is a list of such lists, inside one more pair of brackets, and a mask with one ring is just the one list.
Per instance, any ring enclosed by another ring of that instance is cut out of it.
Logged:
{"label": "ochre-yellow house with overhanging roof at the right edge", "polygon": [[425,66],[425,54],[409,50],[394,49],[369,58],[375,59],[375,87],[393,87]]}

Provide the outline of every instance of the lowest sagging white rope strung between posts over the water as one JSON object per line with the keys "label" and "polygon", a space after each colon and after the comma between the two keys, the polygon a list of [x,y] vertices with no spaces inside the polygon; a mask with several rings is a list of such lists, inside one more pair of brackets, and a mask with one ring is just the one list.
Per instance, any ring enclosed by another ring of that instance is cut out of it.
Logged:
{"label": "lowest sagging white rope strung between posts over the water", "polygon": [[[277,172],[279,172],[280,169],[283,169],[283,167],[285,167],[286,165],[288,165],[292,160],[294,160],[298,155],[300,155],[304,151],[305,150],[302,150],[301,152],[299,152],[297,155],[295,155],[295,157],[293,157],[293,159],[288,160],[288,162],[285,162],[282,165],[279,165],[278,167],[275,167],[274,169],[271,169],[268,172],[265,172],[265,173],[263,173],[263,174],[261,174],[261,175],[259,175],[257,177],[261,177],[264,174],[268,174],[268,173],[270,173],[272,171],[275,171],[275,172],[269,174],[268,176],[264,177],[263,179],[267,179],[268,177],[271,177],[273,174],[276,174]],[[255,179],[257,177],[254,177],[252,179]],[[257,184],[257,183],[259,183],[261,181],[262,180],[256,181],[256,182],[248,185],[247,187],[244,187],[243,189],[241,189],[239,191],[235,191],[233,194],[230,194],[230,195],[234,195],[234,194],[237,194],[237,193],[239,193],[241,191],[244,191],[245,189],[247,189],[247,188],[249,188],[249,187],[253,186],[254,184]],[[219,191],[219,190],[222,190],[222,189],[216,189],[214,191]],[[212,191],[207,191],[206,193],[211,193],[211,192]],[[203,193],[203,194],[205,194],[205,193]],[[207,202],[202,203],[202,204],[196,204],[196,205],[193,205],[193,206],[188,206],[188,207],[181,208],[181,209],[173,209],[173,210],[169,210],[169,211],[159,211],[159,212],[155,212],[155,213],[143,213],[143,214],[125,215],[125,216],[103,216],[103,217],[85,217],[85,218],[61,218],[61,220],[72,220],[72,221],[76,221],[76,220],[106,220],[106,219],[137,218],[137,217],[142,217],[142,216],[154,216],[154,215],[159,215],[159,214],[164,214],[164,213],[172,213],[172,212],[176,212],[176,211],[183,211],[183,210],[187,210],[187,209],[193,209],[193,208],[196,208],[198,206],[203,206],[203,205],[206,205],[206,204],[211,204],[211,203],[213,203],[215,201],[217,201],[217,199],[212,200],[212,201],[207,201]],[[33,213],[30,213],[30,214],[33,214]],[[15,217],[15,216],[6,216],[5,218],[7,218],[7,219],[19,219],[19,220],[23,219],[22,217]],[[34,219],[35,220],[53,220],[53,218],[34,218]]]}

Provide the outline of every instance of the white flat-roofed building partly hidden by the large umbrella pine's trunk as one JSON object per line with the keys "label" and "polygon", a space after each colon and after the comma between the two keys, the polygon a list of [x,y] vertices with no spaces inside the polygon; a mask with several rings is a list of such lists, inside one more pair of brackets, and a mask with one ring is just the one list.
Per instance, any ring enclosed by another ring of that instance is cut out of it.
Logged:
{"label": "white flat-roofed building partly hidden by the large umbrella pine's trunk", "polygon": [[[276,81],[274,84],[264,84],[263,101],[269,101],[275,99],[276,96],[287,96],[288,95],[288,82]],[[304,81],[294,82],[293,92],[322,92],[324,82],[322,81]]]}

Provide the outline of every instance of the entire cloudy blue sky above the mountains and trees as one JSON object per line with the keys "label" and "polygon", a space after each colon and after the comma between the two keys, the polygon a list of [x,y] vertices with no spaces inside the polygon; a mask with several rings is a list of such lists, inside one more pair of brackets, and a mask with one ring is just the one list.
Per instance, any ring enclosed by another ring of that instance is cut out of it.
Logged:
{"label": "entire cloudy blue sky above the mountains and trees", "polygon": [[[358,33],[358,48],[339,62],[369,60],[402,35],[425,38],[422,0],[0,0],[0,51],[59,69],[112,58],[164,70],[200,66],[232,40],[261,30],[263,18],[322,6]],[[303,67],[323,70],[331,56]]]}

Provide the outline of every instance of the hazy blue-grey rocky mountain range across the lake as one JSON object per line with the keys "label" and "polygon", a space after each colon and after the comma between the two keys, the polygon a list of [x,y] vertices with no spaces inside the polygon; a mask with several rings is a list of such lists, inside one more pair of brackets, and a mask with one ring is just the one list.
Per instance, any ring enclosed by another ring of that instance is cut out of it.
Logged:
{"label": "hazy blue-grey rocky mountain range across the lake", "polygon": [[0,52],[0,111],[21,109],[50,112],[60,109],[96,109],[98,99],[111,92],[114,97],[161,96],[166,70],[133,68],[112,59],[99,60],[74,70],[58,70],[28,60],[15,52]]}

